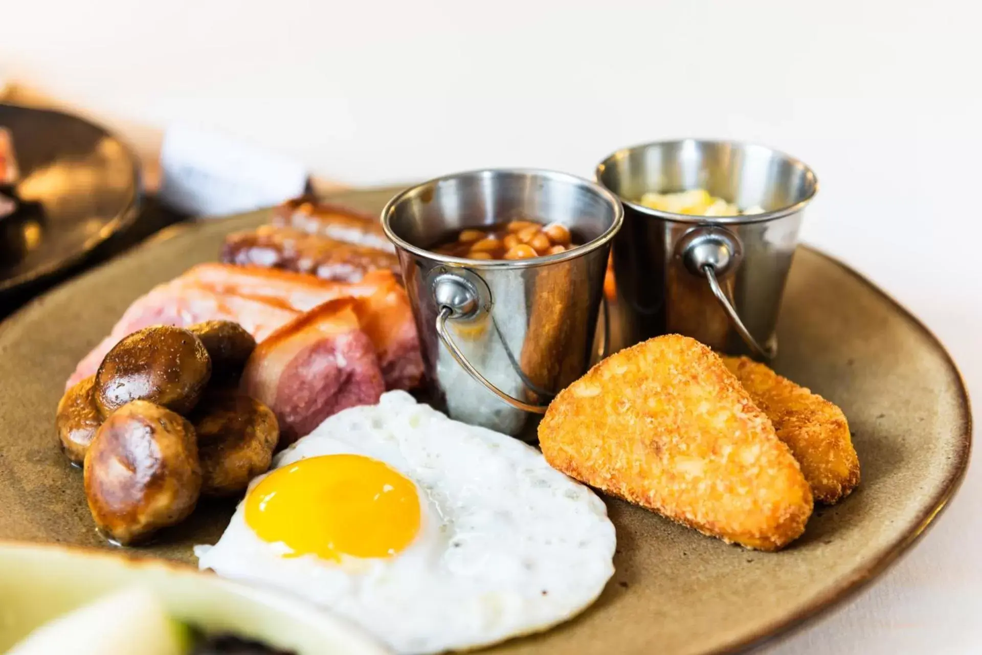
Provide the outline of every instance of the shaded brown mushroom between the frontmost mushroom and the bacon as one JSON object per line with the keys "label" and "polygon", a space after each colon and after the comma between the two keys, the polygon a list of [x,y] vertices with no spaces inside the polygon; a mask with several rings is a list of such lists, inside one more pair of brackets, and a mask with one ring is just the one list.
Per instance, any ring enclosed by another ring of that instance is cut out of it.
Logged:
{"label": "shaded brown mushroom between the frontmost mushroom and the bacon", "polygon": [[276,415],[234,391],[207,394],[191,414],[201,462],[201,494],[232,496],[265,472],[280,439]]}

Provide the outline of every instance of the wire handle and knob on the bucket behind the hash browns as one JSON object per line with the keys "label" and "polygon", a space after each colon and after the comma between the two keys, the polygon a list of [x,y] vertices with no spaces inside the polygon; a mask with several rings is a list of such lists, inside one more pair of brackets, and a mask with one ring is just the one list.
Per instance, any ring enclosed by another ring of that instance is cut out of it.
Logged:
{"label": "wire handle and knob on the bucket behind the hash browns", "polygon": [[730,317],[730,323],[743,343],[754,355],[773,359],[777,355],[777,345],[772,342],[761,346],[757,342],[736,313],[733,302],[727,298],[718,279],[718,275],[723,275],[739,261],[741,249],[736,237],[722,228],[698,227],[682,238],[679,248],[685,267],[689,272],[706,278],[709,290]]}

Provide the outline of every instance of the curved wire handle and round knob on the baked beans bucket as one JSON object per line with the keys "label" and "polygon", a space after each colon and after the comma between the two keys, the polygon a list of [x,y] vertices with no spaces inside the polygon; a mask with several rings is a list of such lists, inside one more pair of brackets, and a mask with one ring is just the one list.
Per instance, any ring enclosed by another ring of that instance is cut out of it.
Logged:
{"label": "curved wire handle and round knob on the baked beans bucket", "polygon": [[[470,377],[483,384],[488,391],[513,408],[528,411],[529,413],[544,414],[546,409],[549,408],[548,403],[545,405],[530,405],[524,401],[519,401],[518,398],[515,398],[511,394],[506,394],[496,384],[491,382],[491,380],[484,377],[479,370],[474,368],[474,365],[470,363],[467,356],[458,348],[453,337],[450,335],[450,330],[447,329],[447,319],[471,318],[479,311],[479,294],[477,289],[474,288],[473,282],[465,277],[444,272],[433,280],[432,290],[433,299],[436,300],[437,306],[440,307],[440,311],[436,316],[436,333],[439,335],[443,345],[450,351],[450,354],[454,356],[457,363],[470,374]],[[603,302],[604,339],[601,352],[603,356],[606,356],[610,341],[610,318],[607,309],[607,300],[604,299]]]}

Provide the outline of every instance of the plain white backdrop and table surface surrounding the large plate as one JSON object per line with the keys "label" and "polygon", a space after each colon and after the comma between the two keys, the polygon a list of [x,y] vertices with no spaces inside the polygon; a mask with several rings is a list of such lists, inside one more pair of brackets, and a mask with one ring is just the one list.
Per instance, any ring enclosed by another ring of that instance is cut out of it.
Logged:
{"label": "plain white backdrop and table surface surrounding the large plate", "polygon": [[[920,316],[982,399],[974,4],[3,0],[0,76],[147,151],[184,121],[359,185],[588,176],[672,136],[775,145],[821,181],[804,240]],[[980,501],[976,467],[899,566],[768,652],[982,652]]]}

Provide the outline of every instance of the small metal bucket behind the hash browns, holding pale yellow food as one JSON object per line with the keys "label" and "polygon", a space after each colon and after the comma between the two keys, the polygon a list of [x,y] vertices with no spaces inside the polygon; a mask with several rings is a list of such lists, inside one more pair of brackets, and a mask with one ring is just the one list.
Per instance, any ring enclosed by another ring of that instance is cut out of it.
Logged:
{"label": "small metal bucket behind the hash browns, holding pale yellow food", "polygon": [[[681,333],[718,351],[770,358],[805,205],[818,190],[800,161],[761,145],[684,139],[618,150],[597,181],[625,206],[614,244],[617,346]],[[639,203],[704,189],[763,213],[689,216]]]}

